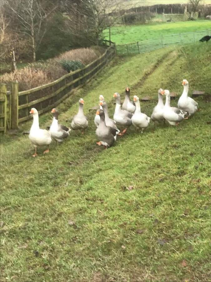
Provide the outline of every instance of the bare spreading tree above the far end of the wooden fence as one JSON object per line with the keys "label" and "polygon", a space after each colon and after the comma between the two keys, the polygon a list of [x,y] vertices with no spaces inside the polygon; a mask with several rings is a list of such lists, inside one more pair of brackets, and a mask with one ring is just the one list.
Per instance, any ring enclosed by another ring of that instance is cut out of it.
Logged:
{"label": "bare spreading tree above the far end of the wooden fence", "polygon": [[119,18],[112,13],[120,5],[114,0],[63,0],[66,28],[71,34],[91,44],[98,45],[103,30],[111,27]]}

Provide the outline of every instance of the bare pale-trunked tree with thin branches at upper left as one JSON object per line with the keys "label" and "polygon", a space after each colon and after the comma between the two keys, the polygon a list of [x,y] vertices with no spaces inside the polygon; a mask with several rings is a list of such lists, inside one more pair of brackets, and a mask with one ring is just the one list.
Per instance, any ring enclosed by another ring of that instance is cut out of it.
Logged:
{"label": "bare pale-trunked tree with thin branches at upper left", "polygon": [[12,11],[11,16],[15,16],[22,27],[20,30],[16,30],[30,38],[33,61],[36,60],[36,50],[46,34],[46,21],[57,8],[57,5],[48,7],[47,4],[49,2],[43,0],[7,1],[9,9]]}

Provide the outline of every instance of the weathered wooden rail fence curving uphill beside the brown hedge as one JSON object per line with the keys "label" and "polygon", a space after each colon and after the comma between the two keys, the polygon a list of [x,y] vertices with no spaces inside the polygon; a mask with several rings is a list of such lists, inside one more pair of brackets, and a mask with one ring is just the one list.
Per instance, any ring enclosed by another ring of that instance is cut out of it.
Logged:
{"label": "weathered wooden rail fence curving uphill beside the brown hedge", "polygon": [[[82,69],[68,73],[48,84],[18,92],[18,81],[12,82],[12,91],[5,96],[6,85],[1,84],[1,132],[6,128],[18,128],[18,124],[31,118],[29,114],[32,107],[39,114],[48,112],[64,99],[69,97],[74,90],[82,87],[95,76],[115,56],[115,45],[111,44],[105,53],[91,64]],[[12,103],[11,103],[12,100]],[[6,111],[6,107],[8,110]],[[8,115],[8,111],[10,114]],[[11,114],[12,112],[12,114]]]}

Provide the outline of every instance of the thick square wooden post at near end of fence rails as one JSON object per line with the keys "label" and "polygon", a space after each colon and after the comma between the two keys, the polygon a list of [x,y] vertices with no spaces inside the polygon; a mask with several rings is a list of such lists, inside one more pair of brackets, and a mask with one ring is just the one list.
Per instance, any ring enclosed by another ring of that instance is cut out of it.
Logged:
{"label": "thick square wooden post at near end of fence rails", "polygon": [[18,81],[12,82],[12,129],[18,128]]}

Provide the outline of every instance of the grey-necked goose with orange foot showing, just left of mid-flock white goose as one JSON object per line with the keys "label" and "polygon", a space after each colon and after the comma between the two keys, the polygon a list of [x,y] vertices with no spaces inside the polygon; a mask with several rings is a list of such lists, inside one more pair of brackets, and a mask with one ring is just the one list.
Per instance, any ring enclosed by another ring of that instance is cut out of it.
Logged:
{"label": "grey-necked goose with orange foot showing, just left of mid-flock white goose", "polygon": [[121,133],[118,133],[118,135],[123,135],[127,131],[127,127],[132,124],[131,118],[133,114],[131,112],[121,109],[121,100],[119,93],[115,92],[113,94],[113,97],[116,100],[116,107],[113,114],[113,119],[119,126],[126,127]]}

